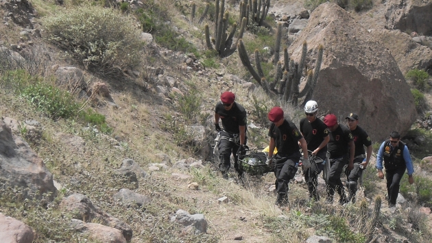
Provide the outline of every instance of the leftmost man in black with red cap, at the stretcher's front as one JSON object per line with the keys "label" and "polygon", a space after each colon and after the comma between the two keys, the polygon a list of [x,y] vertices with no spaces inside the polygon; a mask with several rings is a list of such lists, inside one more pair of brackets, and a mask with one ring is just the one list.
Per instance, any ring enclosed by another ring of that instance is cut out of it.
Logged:
{"label": "leftmost man in black with red cap, at the stretcher's front", "polygon": [[[219,118],[222,120],[222,130],[219,126]],[[215,107],[215,127],[216,131],[220,133],[220,140],[218,143],[219,149],[219,170],[224,177],[230,169],[231,153],[234,155],[234,168],[242,174],[239,168],[238,159],[239,154],[244,151],[246,144],[246,111],[243,106],[235,102],[235,94],[229,91],[221,94],[221,101]]]}

